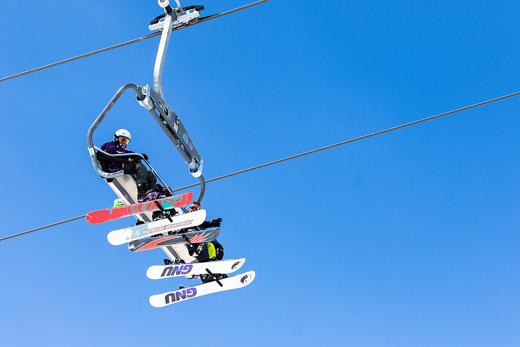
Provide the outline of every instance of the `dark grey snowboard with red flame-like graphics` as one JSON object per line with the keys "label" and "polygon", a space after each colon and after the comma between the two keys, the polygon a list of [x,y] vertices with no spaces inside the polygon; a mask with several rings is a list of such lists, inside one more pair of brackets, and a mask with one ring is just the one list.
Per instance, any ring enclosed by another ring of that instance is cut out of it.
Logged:
{"label": "dark grey snowboard with red flame-like graphics", "polygon": [[219,234],[220,228],[215,228],[170,236],[149,237],[128,242],[128,249],[132,252],[140,252],[154,248],[183,245],[188,243],[186,239],[190,243],[209,242],[216,239]]}

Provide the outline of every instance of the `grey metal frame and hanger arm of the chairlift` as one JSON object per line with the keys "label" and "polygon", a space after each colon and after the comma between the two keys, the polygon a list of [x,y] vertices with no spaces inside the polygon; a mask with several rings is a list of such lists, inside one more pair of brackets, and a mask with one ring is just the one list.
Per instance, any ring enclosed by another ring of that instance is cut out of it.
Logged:
{"label": "grey metal frame and hanger arm of the chairlift", "polygon": [[[105,151],[102,151],[98,147],[94,146],[92,135],[96,130],[97,126],[101,121],[105,118],[108,111],[112,108],[115,102],[119,99],[119,97],[127,90],[132,89],[136,94],[136,100],[139,105],[145,107],[150,114],[153,116],[155,121],[161,126],[162,130],[170,138],[171,142],[174,144],[175,148],[179,151],[180,155],[183,156],[184,160],[188,164],[190,174],[199,178],[201,186],[199,196],[197,197],[197,202],[200,203],[202,198],[204,197],[205,192],[205,180],[202,176],[202,167],[203,167],[203,159],[199,154],[199,151],[193,145],[191,138],[189,137],[183,123],[180,121],[179,117],[172,110],[166,101],[164,101],[164,92],[162,87],[162,70],[164,67],[164,60],[166,57],[166,50],[168,49],[168,43],[170,42],[170,36],[172,33],[172,29],[174,27],[181,27],[186,25],[187,23],[196,22],[199,18],[198,10],[204,9],[203,6],[190,6],[183,8],[180,6],[178,0],[175,0],[177,3],[176,8],[172,8],[168,6],[168,0],[160,0],[159,5],[164,8],[165,14],[158,16],[153,19],[150,23],[149,29],[153,30],[161,30],[161,41],[159,43],[159,49],[157,52],[157,57],[155,58],[155,65],[153,69],[153,86],[152,88],[149,84],[146,86],[136,86],[132,83],[127,83],[119,88],[119,91],[115,93],[112,97],[108,105],[103,109],[103,111],[98,115],[97,119],[90,126],[87,132],[87,143],[88,143],[88,153],[90,155],[90,159],[92,159],[92,164],[94,166],[94,170],[105,180],[108,185],[112,188],[116,195],[118,195],[126,204],[132,204],[137,202],[137,187],[135,182],[135,177],[132,175],[127,175],[123,170],[118,172],[108,173],[103,171],[98,162],[98,158],[96,153],[102,153],[104,156],[108,157],[128,157],[128,156],[137,156],[141,161],[144,161],[149,167],[150,171],[159,179],[159,181],[163,184],[164,187],[168,189],[170,194],[173,194],[173,191],[168,187],[167,184],[164,183],[161,176],[155,171],[152,165],[148,160],[145,159],[139,153],[132,154],[119,154],[119,155],[111,155]],[[160,19],[164,18],[164,21],[160,21]],[[182,210],[186,213],[186,209],[182,208]],[[143,213],[136,215],[137,219],[143,221],[145,223],[151,222],[152,217],[151,213]],[[168,255],[168,257],[173,261],[175,259],[183,259],[187,263],[196,262],[196,259],[188,254],[188,250],[184,246],[168,246],[162,247],[162,250]]]}

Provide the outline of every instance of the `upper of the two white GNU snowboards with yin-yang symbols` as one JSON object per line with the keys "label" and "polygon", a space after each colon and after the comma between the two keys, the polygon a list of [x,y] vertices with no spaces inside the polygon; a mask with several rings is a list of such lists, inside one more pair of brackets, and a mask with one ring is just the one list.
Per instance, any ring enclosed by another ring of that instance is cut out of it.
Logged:
{"label": "upper of the two white GNU snowboards with yin-yang symbols", "polygon": [[177,276],[207,274],[206,269],[213,274],[229,274],[237,271],[245,262],[245,258],[220,260],[193,264],[153,265],[148,268],[146,276],[150,279],[161,279]]}

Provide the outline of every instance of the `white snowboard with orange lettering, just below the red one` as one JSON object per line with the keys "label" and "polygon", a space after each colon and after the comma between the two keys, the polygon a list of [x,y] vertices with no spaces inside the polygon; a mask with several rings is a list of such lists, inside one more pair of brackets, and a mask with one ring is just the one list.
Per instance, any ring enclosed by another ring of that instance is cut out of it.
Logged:
{"label": "white snowboard with orange lettering, just below the red one", "polygon": [[168,219],[162,219],[155,222],[134,225],[128,228],[113,230],[107,235],[108,242],[112,245],[123,245],[123,243],[133,240],[142,239],[144,237],[188,228],[200,225],[206,218],[206,210],[199,210],[184,213],[172,217],[172,222]]}

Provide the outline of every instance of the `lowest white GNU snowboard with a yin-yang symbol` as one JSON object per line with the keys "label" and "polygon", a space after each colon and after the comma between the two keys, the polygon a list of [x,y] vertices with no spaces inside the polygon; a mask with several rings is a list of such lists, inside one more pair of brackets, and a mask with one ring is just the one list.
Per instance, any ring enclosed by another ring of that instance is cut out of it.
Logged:
{"label": "lowest white GNU snowboard with a yin-yang symbol", "polygon": [[150,305],[153,307],[164,307],[174,304],[179,301],[185,301],[192,298],[201,297],[202,295],[212,294],[219,291],[242,288],[249,285],[255,279],[255,272],[248,271],[241,275],[236,275],[224,279],[219,282],[212,281],[198,286],[187,287],[179,290],[170,291],[167,293],[152,295],[150,297]]}

